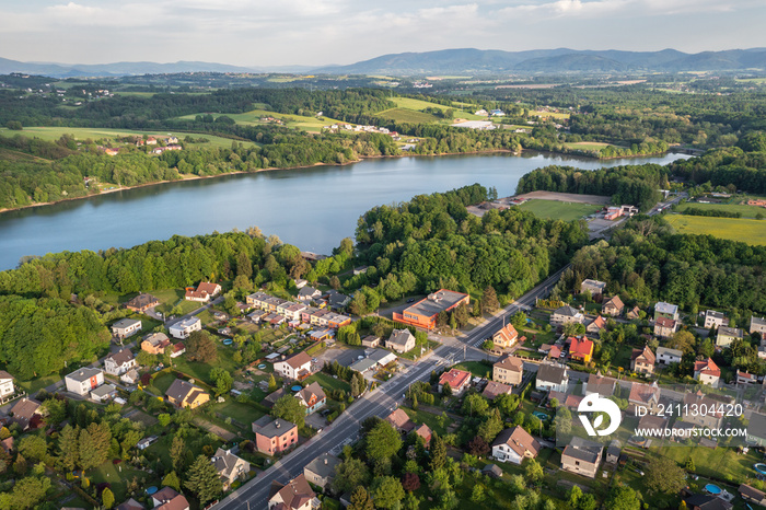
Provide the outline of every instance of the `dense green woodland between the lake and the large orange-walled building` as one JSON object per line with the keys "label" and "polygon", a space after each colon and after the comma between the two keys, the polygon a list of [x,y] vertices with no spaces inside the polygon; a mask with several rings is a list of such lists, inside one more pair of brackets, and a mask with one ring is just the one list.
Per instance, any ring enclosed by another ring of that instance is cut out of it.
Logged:
{"label": "dense green woodland between the lake and the large orange-walled building", "polygon": [[475,184],[453,192],[419,195],[398,206],[365,212],[357,228],[358,256],[370,264],[364,277],[386,294],[403,281],[420,291],[441,287],[517,297],[588,241],[576,222],[542,220],[510,209],[469,215],[466,205],[487,198]]}

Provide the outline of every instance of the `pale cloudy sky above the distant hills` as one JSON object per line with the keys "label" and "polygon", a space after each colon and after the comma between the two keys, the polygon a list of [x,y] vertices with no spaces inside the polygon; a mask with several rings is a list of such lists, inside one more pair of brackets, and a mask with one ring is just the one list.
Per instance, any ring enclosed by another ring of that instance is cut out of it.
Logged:
{"label": "pale cloudy sky above the distant hills", "polygon": [[0,57],[247,67],[448,48],[766,46],[764,0],[0,0]]}

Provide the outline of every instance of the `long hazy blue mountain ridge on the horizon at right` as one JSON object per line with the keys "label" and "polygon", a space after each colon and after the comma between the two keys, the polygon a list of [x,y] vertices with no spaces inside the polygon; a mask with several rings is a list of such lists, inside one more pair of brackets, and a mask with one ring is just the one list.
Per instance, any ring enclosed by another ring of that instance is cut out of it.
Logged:
{"label": "long hazy blue mountain ridge on the horizon at right", "polygon": [[615,71],[717,71],[766,68],[766,48],[685,54],[661,51],[574,50],[568,48],[527,51],[497,49],[442,49],[392,54],[349,66],[327,66],[315,73],[330,74],[476,74],[501,72],[615,72]]}

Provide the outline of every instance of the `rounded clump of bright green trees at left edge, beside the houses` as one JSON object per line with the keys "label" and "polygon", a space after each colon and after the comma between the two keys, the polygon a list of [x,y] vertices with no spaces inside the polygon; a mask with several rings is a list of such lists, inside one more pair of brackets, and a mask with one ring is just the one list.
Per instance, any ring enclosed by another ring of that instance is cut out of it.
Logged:
{"label": "rounded clump of bright green trees at left edge, beside the houses", "polygon": [[58,372],[66,362],[90,361],[109,338],[88,308],[57,298],[0,295],[0,362],[21,380]]}

